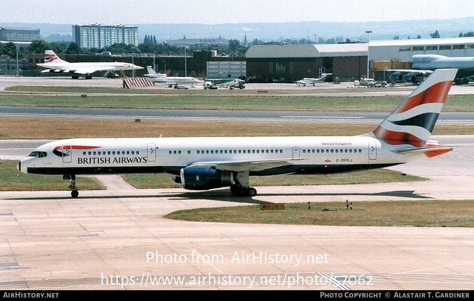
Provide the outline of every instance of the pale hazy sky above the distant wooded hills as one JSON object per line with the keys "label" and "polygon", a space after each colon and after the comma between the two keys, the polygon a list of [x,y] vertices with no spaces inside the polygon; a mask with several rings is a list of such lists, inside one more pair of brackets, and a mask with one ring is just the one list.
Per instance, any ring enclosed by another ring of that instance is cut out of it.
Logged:
{"label": "pale hazy sky above the distant wooded hills", "polygon": [[0,0],[6,22],[55,24],[395,21],[474,16],[473,0]]}

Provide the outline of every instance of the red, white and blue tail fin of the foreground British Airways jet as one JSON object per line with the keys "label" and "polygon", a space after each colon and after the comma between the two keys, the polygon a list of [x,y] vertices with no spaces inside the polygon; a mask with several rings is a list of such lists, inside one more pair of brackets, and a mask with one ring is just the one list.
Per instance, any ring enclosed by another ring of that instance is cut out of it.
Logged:
{"label": "red, white and blue tail fin of the foreground British Airways jet", "polygon": [[457,69],[437,69],[367,136],[390,145],[425,146]]}

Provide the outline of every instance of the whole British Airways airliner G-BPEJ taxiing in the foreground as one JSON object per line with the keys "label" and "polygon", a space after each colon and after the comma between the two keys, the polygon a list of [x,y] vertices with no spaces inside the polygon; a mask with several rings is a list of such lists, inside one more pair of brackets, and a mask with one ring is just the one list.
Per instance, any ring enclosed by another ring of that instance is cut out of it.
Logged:
{"label": "whole British Airways airliner G-BPEJ taxiing in the foreground", "polygon": [[398,165],[453,148],[430,141],[457,69],[438,69],[372,132],[332,137],[77,138],[42,145],[21,160],[23,173],[169,173],[190,190],[230,186],[255,196],[249,176],[331,174]]}

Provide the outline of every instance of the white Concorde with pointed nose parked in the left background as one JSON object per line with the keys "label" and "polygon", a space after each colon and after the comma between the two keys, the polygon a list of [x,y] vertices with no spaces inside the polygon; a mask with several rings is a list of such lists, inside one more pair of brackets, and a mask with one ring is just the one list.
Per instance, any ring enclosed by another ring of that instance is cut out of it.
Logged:
{"label": "white Concorde with pointed nose parked in the left background", "polygon": [[44,63],[37,64],[40,67],[47,68],[41,72],[68,72],[72,74],[73,79],[83,75],[86,79],[92,78],[92,73],[96,71],[118,71],[118,70],[138,70],[143,67],[126,62],[74,62],[70,63],[61,60],[52,50],[44,52]]}

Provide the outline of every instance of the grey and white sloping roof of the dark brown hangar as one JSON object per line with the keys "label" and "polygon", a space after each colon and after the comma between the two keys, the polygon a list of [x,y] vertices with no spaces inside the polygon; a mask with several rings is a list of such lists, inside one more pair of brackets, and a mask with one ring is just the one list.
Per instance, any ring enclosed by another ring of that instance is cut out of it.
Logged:
{"label": "grey and white sloping roof of the dark brown hangar", "polygon": [[367,43],[313,44],[313,45],[254,45],[245,58],[322,58],[367,56]]}

